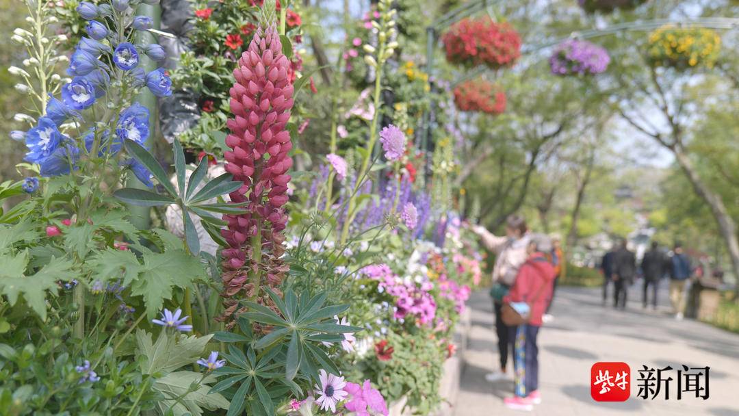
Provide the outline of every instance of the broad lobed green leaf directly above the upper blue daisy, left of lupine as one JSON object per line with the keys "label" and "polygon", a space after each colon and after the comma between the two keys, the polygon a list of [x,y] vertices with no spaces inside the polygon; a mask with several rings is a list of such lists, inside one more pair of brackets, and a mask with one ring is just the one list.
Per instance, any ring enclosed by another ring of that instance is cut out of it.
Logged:
{"label": "broad lobed green leaf directly above the upper blue daisy, left of lupine", "polygon": [[202,265],[183,250],[146,254],[131,293],[143,296],[146,313],[153,318],[162,309],[164,300],[172,299],[173,287],[191,287],[200,276],[205,276]]}

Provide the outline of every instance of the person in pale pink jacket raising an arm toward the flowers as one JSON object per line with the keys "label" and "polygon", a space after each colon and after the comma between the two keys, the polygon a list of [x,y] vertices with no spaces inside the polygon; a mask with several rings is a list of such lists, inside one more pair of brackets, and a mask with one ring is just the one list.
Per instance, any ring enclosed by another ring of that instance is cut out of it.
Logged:
{"label": "person in pale pink jacket raising an arm toward the flowers", "polygon": [[477,233],[482,239],[483,245],[496,255],[492,275],[493,287],[490,290],[490,296],[493,299],[495,310],[495,332],[498,336],[500,371],[491,372],[485,376],[487,381],[494,382],[506,377],[508,349],[511,339],[508,338],[508,326],[503,323],[500,309],[503,307],[503,296],[508,294],[511,285],[516,280],[519,267],[526,261],[528,227],[522,216],[513,214],[505,220],[505,236],[495,236],[480,225],[474,226],[472,231]]}

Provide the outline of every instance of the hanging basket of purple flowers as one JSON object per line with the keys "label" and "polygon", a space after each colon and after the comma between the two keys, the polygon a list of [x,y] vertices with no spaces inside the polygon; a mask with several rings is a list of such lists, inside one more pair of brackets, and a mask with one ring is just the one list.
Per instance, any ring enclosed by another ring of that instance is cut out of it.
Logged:
{"label": "hanging basket of purple flowers", "polygon": [[554,75],[596,75],[610,63],[608,52],[596,44],[568,39],[559,44],[549,58]]}

